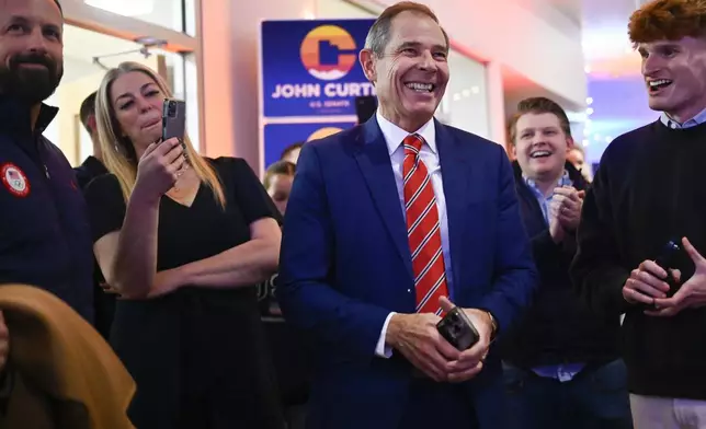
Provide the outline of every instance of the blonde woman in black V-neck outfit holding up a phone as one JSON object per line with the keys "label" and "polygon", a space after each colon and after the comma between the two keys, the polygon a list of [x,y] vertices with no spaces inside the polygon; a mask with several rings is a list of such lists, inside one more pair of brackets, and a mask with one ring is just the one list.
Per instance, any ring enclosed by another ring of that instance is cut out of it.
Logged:
{"label": "blonde woman in black V-neck outfit holding up a phone", "polygon": [[277,267],[281,232],[239,159],[161,138],[164,81],[110,70],[96,118],[112,174],[87,189],[94,252],[121,294],[111,343],[137,382],[138,428],[282,428],[253,285]]}

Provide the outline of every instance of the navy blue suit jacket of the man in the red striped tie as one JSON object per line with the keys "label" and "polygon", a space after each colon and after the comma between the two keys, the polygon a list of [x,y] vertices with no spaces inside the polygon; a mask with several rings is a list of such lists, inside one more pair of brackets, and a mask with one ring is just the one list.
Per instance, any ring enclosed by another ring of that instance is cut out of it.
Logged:
{"label": "navy blue suit jacket of the man in the red striped tie", "polygon": [[[435,124],[447,204],[454,301],[490,311],[500,331],[536,282],[502,147]],[[287,204],[277,298],[314,340],[309,428],[395,428],[411,364],[375,356],[390,311],[415,306],[407,227],[385,139],[373,116],[304,146]],[[481,428],[503,418],[500,360],[465,383]]]}

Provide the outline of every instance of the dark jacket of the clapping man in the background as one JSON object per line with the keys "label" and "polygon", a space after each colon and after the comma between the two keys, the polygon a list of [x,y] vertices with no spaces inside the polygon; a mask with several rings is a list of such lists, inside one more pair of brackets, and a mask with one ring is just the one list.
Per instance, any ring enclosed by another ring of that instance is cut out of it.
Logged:
{"label": "dark jacket of the clapping man in the background", "polygon": [[[520,212],[531,237],[539,285],[532,308],[516,328],[503,337],[502,358],[525,370],[565,362],[583,362],[595,368],[617,359],[618,317],[600,317],[571,287],[569,266],[576,254],[576,235],[567,234],[560,244],[554,242],[520,164],[515,162],[513,167]],[[571,163],[567,162],[565,170],[574,188],[588,189],[589,184]]]}

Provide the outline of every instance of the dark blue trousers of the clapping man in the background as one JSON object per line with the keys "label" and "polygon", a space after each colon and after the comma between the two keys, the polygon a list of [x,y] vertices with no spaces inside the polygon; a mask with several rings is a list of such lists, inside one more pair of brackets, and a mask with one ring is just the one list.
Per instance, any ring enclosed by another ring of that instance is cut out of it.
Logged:
{"label": "dark blue trousers of the clapping man in the background", "polygon": [[512,429],[631,429],[625,363],[587,369],[568,382],[504,366]]}

